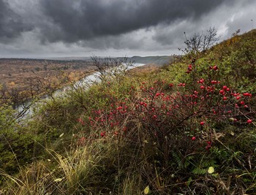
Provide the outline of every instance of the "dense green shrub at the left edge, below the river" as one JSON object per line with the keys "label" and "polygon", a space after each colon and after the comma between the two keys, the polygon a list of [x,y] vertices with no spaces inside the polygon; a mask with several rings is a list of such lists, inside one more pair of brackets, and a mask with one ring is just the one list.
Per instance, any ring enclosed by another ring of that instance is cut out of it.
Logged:
{"label": "dense green shrub at the left edge, below the river", "polygon": [[[23,129],[11,107],[0,107],[0,169],[9,174],[18,172],[37,157],[38,138],[33,131]],[[35,153],[37,150],[37,154]]]}

